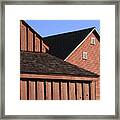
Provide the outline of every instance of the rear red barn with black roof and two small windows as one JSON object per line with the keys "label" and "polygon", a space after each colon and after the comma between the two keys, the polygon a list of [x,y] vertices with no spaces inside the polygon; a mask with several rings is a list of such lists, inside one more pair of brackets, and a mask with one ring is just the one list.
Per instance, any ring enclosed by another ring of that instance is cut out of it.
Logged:
{"label": "rear red barn with black roof and two small windows", "polygon": [[[44,38],[49,53],[100,75],[100,36],[94,27]],[[100,99],[100,80],[96,81]]]}

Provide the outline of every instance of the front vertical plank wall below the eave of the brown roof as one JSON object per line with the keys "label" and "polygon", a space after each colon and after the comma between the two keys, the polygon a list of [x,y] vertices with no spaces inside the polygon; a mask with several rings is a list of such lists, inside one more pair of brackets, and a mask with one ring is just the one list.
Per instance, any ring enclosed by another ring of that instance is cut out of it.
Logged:
{"label": "front vertical plank wall below the eave of the brown roof", "polygon": [[20,99],[96,100],[95,89],[94,81],[21,79]]}

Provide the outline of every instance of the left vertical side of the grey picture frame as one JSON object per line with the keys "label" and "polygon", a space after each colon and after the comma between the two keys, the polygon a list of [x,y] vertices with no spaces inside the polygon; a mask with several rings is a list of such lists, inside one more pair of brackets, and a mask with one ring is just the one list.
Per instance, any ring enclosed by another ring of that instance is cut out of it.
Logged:
{"label": "left vertical side of the grey picture frame", "polygon": [[0,117],[4,118],[5,116],[5,11],[4,11],[4,3],[0,3]]}

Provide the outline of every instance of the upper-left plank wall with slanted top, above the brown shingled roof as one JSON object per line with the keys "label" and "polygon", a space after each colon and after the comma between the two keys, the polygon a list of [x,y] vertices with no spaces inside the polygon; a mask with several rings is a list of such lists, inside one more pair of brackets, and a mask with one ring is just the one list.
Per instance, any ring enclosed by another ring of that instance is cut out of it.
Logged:
{"label": "upper-left plank wall with slanted top, above the brown shingled roof", "polygon": [[41,36],[22,20],[20,21],[20,50],[31,52],[47,52],[49,50]]}

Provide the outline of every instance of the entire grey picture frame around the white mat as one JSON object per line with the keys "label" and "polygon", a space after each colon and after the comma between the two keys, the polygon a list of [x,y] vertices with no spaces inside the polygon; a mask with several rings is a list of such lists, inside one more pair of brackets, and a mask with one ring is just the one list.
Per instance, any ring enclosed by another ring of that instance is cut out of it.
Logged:
{"label": "entire grey picture frame around the white mat", "polygon": [[[5,115],[5,5],[17,4],[113,4],[115,5],[115,115]],[[2,1],[1,3],[1,74],[0,74],[0,117],[2,119],[119,119],[119,28],[120,28],[120,3],[116,0],[110,1]]]}

